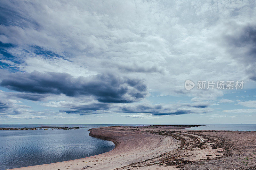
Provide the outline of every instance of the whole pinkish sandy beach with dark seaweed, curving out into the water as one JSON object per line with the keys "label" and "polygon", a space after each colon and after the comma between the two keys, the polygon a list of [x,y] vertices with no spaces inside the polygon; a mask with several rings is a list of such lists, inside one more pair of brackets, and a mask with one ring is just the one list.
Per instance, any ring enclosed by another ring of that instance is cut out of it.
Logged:
{"label": "whole pinkish sandy beach with dark seaweed, curving out into the water", "polygon": [[256,131],[188,130],[184,126],[90,129],[116,147],[100,155],[15,169],[255,169]]}

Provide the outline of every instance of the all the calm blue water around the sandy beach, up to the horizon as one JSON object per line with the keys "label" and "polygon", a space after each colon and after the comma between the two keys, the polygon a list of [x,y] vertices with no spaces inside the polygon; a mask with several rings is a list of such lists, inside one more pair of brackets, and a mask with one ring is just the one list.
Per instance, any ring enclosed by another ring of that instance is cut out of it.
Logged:
{"label": "all the calm blue water around the sandy beach, up to the horizon", "polygon": [[[0,124],[1,128],[87,126],[72,130],[0,130],[0,170],[54,163],[97,155],[115,144],[89,136],[88,129],[108,126],[174,124]],[[188,129],[256,130],[256,124],[209,124]]]}

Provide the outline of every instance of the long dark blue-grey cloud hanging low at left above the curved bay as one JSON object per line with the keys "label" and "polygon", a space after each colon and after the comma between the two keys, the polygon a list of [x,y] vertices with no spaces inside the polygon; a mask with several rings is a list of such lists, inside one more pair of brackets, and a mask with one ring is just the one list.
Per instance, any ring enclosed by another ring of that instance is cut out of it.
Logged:
{"label": "long dark blue-grey cloud hanging low at left above the curved bay", "polygon": [[[141,80],[118,78],[110,74],[74,78],[66,73],[9,73],[0,84],[18,92],[38,94],[65,94],[67,96],[94,96],[100,102],[129,103],[148,94]],[[21,98],[29,99],[30,95]],[[40,95],[31,98],[39,100]]]}

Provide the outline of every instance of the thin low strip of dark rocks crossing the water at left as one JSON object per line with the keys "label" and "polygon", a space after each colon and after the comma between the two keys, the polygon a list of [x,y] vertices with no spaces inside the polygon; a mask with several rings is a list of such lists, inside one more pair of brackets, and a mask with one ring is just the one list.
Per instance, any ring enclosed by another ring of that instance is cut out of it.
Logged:
{"label": "thin low strip of dark rocks crossing the water at left", "polygon": [[79,128],[87,128],[87,126],[83,126],[83,127],[74,127],[74,126],[40,126],[40,127],[0,128],[0,130],[49,130],[49,129],[71,130],[71,129],[79,129]]}

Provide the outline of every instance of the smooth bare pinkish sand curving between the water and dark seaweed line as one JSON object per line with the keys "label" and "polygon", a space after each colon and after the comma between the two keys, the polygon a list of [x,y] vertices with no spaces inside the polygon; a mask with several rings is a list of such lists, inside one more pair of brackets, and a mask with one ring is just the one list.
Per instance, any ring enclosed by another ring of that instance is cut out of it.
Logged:
{"label": "smooth bare pinkish sand curving between the water and dark seaweed line", "polygon": [[[139,133],[139,134],[138,134]],[[52,164],[28,166],[15,169],[50,170],[50,169],[115,169],[127,166],[134,162],[151,159],[159,154],[173,150],[177,144],[172,137],[151,134],[148,132],[124,131],[110,128],[90,129],[90,136],[111,140],[116,147],[106,153],[82,159],[75,159]]]}

